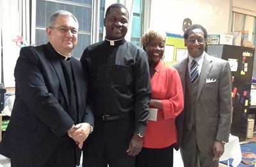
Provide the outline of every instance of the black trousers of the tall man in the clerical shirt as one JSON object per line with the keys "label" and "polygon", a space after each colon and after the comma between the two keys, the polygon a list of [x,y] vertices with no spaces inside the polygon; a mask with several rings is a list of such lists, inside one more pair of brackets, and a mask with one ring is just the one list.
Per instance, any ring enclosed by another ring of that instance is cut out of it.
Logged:
{"label": "black trousers of the tall man in the clerical shirt", "polygon": [[95,116],[92,134],[84,142],[83,167],[134,167],[135,156],[127,155],[134,133],[134,115],[113,121]]}

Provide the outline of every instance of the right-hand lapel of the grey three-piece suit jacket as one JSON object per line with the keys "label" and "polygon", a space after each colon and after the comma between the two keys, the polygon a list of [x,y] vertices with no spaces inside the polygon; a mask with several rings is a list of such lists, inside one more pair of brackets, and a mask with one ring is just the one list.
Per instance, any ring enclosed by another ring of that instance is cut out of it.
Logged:
{"label": "right-hand lapel of the grey three-piece suit jacket", "polygon": [[205,85],[205,81],[206,81],[207,77],[209,76],[209,73],[211,72],[211,68],[212,68],[211,56],[209,56],[208,54],[205,53],[204,62],[203,62],[203,66],[202,66],[202,70],[201,70],[201,74],[200,74],[200,80],[199,80],[199,84],[198,84],[196,101],[200,97],[202,89],[204,88],[204,85]]}

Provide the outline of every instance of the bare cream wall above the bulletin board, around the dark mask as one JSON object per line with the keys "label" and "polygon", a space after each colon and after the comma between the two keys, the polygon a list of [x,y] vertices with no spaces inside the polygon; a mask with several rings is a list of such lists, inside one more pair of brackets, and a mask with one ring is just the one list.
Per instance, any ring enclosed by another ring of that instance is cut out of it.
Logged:
{"label": "bare cream wall above the bulletin board, around the dark mask", "polygon": [[232,0],[151,0],[150,27],[183,35],[183,20],[189,18],[209,34],[228,33],[231,10]]}

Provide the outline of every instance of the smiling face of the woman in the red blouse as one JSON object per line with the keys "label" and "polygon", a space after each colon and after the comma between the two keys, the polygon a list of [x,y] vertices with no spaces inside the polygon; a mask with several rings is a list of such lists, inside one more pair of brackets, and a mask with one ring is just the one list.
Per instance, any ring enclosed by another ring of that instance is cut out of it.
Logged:
{"label": "smiling face of the woman in the red blouse", "polygon": [[163,58],[165,40],[161,36],[150,37],[148,40],[148,45],[144,47],[145,52],[147,52],[148,62],[154,67]]}

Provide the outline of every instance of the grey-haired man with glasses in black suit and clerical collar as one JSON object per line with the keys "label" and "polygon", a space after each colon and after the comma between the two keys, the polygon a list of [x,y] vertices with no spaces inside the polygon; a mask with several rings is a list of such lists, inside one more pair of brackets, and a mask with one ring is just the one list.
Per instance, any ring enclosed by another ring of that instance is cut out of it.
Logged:
{"label": "grey-haired man with glasses in black suit and clerical collar", "polygon": [[23,47],[15,66],[15,102],[0,143],[0,154],[12,167],[75,167],[92,131],[86,75],[70,54],[77,44],[77,19],[60,10],[51,15],[46,32],[49,42]]}

